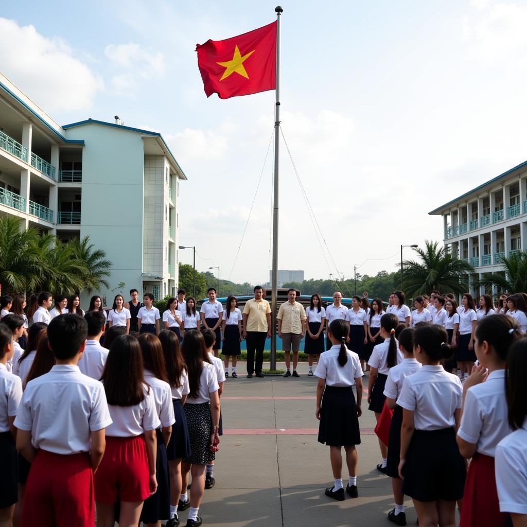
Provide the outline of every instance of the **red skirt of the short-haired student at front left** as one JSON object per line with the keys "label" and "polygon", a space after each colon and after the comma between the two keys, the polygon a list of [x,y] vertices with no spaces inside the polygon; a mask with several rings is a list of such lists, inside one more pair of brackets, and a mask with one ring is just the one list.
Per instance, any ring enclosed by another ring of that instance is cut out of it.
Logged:
{"label": "red skirt of the short-haired student at front left", "polygon": [[27,477],[22,527],[93,527],[93,471],[90,455],[38,450]]}

